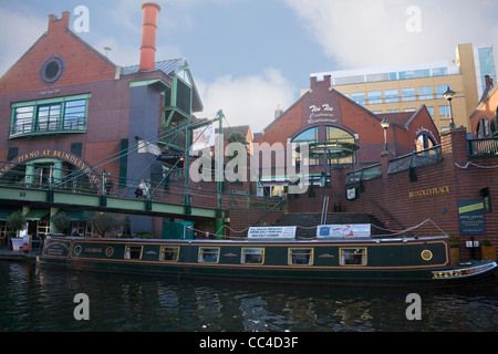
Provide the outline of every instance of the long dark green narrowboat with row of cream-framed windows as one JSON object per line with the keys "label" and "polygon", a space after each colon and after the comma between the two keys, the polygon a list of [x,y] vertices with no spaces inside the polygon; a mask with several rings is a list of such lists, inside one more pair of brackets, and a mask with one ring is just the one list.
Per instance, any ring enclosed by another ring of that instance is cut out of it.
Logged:
{"label": "long dark green narrowboat with row of cream-framed windows", "polygon": [[452,264],[448,237],[339,239],[87,239],[48,237],[39,262],[179,278],[330,284],[467,285],[495,261]]}

